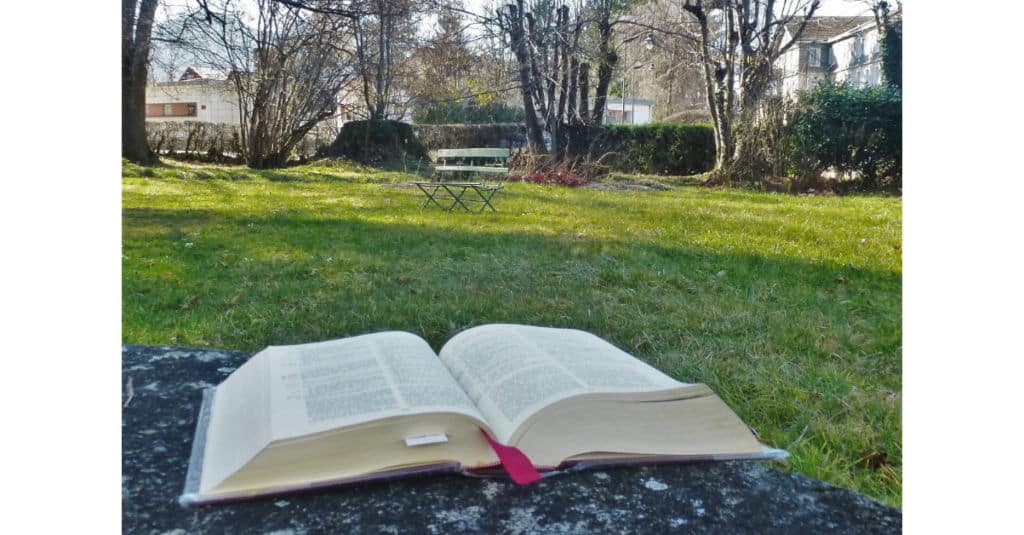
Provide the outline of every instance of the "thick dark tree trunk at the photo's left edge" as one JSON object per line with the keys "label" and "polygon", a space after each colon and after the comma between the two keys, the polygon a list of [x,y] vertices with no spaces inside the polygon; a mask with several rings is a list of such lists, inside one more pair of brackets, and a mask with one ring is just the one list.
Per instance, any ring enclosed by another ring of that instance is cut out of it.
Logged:
{"label": "thick dark tree trunk at the photo's left edge", "polygon": [[157,3],[121,1],[121,156],[141,164],[155,161],[145,142],[145,84]]}

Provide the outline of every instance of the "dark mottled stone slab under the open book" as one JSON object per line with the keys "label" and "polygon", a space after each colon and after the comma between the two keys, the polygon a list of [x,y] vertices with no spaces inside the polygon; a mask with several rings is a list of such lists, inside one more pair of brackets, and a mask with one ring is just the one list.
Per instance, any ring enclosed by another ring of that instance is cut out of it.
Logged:
{"label": "dark mottled stone slab under the open book", "polygon": [[902,515],[763,462],[622,467],[528,487],[422,477],[184,508],[202,389],[250,354],[126,345],[122,521],[126,533],[892,533]]}

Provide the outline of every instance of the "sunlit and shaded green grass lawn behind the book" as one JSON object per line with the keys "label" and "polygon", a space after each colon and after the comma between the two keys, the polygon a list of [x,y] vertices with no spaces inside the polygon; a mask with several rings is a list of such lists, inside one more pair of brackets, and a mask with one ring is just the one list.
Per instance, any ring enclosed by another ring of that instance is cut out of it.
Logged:
{"label": "sunlit and shaded green grass lawn behind the book", "polygon": [[791,469],[900,504],[899,199],[511,183],[478,215],[337,165],[125,165],[124,341],[579,328],[708,383]]}

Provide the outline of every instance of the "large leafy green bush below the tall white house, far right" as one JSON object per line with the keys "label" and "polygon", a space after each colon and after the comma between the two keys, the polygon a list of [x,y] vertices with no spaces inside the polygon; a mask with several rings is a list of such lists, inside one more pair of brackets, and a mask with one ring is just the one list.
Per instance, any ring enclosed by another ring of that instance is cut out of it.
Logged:
{"label": "large leafy green bush below the tall white house, far right", "polygon": [[820,84],[790,114],[790,170],[806,179],[835,169],[858,176],[864,190],[900,188],[902,135],[899,88]]}

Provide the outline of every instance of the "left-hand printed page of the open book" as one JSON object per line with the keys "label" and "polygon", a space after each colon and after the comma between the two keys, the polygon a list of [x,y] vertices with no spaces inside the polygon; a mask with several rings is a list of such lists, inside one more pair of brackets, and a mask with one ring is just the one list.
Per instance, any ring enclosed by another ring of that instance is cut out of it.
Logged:
{"label": "left-hand printed page of the open book", "polygon": [[426,412],[483,420],[427,342],[411,333],[383,332],[270,351],[274,439]]}

